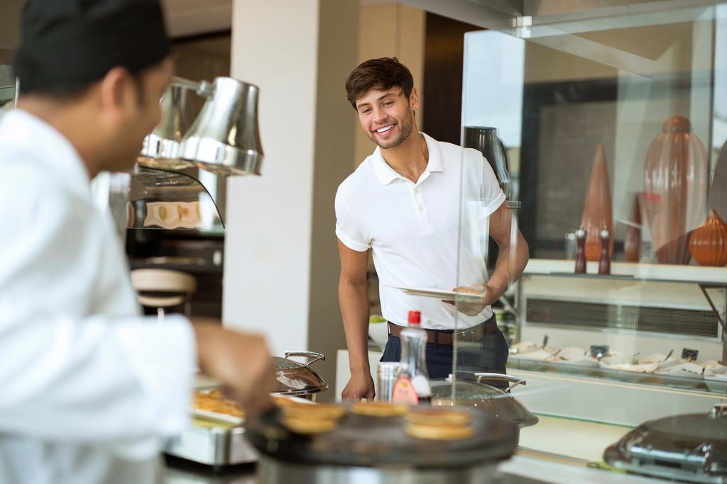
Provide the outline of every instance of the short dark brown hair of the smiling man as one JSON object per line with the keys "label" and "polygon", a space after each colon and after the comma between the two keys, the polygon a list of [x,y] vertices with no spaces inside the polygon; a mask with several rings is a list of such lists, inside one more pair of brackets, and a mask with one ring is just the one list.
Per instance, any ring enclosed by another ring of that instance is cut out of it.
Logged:
{"label": "short dark brown hair of the smiling man", "polygon": [[411,72],[396,57],[381,57],[361,62],[346,79],[346,94],[353,109],[356,109],[356,99],[371,89],[386,91],[393,87],[400,87],[406,99],[409,99],[411,89],[414,89]]}

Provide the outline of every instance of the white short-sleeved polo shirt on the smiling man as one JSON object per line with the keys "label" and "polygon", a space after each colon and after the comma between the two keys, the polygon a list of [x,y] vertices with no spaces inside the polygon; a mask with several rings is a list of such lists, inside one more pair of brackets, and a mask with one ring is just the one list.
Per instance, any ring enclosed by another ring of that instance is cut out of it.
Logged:
{"label": "white short-sleeved polo shirt on the smiling man", "polygon": [[[453,305],[406,295],[388,285],[452,290],[486,282],[489,216],[505,201],[505,193],[476,149],[422,135],[429,163],[416,184],[391,168],[379,147],[340,184],[336,235],[351,250],[373,249],[382,316],[388,321],[406,325],[409,311],[421,311],[422,327],[454,329]],[[491,316],[489,306],[478,316],[459,313],[457,326],[474,326]]]}

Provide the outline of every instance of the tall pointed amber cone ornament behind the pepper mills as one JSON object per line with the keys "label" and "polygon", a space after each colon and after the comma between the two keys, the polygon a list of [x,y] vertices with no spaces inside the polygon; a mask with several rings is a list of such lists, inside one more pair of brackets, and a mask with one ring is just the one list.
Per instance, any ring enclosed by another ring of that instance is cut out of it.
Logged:
{"label": "tall pointed amber cone ornament behind the pepper mills", "polygon": [[[581,225],[587,232],[586,260],[598,261],[601,258],[601,233],[603,227],[614,233],[614,216],[611,213],[611,186],[608,184],[608,168],[606,166],[606,151],[599,144],[595,148],[593,168],[588,183],[588,193],[583,204],[583,217]],[[614,239],[608,245],[608,255],[614,253]]]}

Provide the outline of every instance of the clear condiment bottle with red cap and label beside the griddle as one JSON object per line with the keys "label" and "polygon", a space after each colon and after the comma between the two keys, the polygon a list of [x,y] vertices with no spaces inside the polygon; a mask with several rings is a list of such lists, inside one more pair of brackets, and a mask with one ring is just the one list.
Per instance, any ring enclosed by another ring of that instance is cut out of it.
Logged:
{"label": "clear condiment bottle with red cap and label beside the griddle", "polygon": [[422,315],[409,311],[409,327],[401,331],[401,377],[394,385],[392,401],[408,405],[432,402],[427,372],[427,332],[419,325]]}

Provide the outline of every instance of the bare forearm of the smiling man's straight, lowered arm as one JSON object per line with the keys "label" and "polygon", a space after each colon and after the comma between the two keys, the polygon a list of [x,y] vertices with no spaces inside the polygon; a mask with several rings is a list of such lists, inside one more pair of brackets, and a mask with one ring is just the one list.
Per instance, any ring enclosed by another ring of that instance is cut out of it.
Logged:
{"label": "bare forearm of the smiling man's straight, lowered arm", "polygon": [[369,372],[369,290],[366,282],[341,281],[338,300],[351,373]]}

